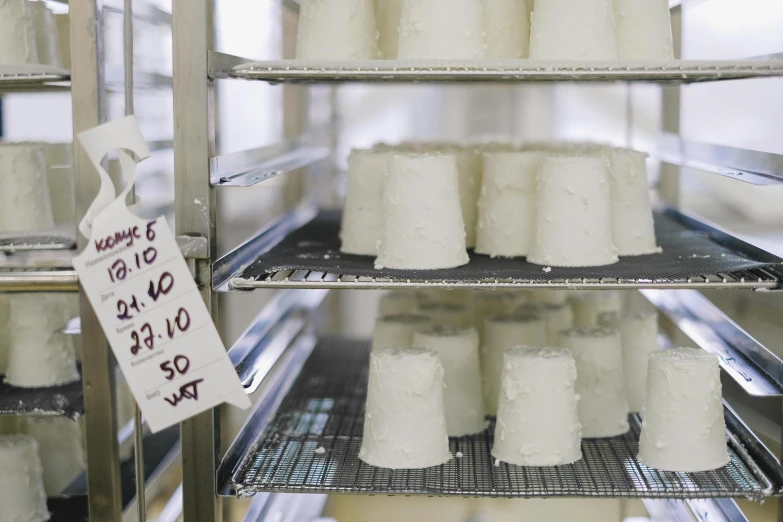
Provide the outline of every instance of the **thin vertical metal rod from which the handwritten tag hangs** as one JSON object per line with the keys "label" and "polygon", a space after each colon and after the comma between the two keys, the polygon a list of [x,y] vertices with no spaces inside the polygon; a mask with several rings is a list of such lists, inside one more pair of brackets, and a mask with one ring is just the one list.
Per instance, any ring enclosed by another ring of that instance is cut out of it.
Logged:
{"label": "thin vertical metal rod from which the handwritten tag hangs", "polygon": [[[133,0],[124,0],[122,20],[123,66],[125,69],[125,116],[134,113],[133,105]],[[141,409],[133,408],[133,464],[136,475],[136,510],[139,522],[147,520],[147,491],[144,484],[144,420]]]}

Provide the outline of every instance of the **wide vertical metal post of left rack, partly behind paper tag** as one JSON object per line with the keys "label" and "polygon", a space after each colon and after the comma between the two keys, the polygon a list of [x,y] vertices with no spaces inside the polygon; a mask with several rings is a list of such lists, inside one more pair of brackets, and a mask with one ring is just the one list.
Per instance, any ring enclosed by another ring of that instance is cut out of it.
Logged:
{"label": "wide vertical metal post of left rack, partly behind paper tag", "polygon": [[[71,102],[74,136],[106,118],[102,0],[71,0]],[[100,180],[81,146],[74,144],[76,222],[98,193]],[[78,236],[79,250],[87,240]],[[80,294],[84,358],[85,439],[90,520],[115,522],[122,514],[120,451],[115,416],[115,361],[83,291]]]}

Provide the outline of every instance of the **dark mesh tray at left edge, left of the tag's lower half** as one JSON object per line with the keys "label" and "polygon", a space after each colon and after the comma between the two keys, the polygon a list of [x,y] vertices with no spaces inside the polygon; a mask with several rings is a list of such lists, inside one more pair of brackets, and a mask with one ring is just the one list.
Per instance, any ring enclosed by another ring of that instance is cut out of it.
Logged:
{"label": "dark mesh tray at left edge, left of the tag's lower half", "polygon": [[0,415],[63,415],[84,413],[82,382],[51,388],[18,388],[0,382]]}

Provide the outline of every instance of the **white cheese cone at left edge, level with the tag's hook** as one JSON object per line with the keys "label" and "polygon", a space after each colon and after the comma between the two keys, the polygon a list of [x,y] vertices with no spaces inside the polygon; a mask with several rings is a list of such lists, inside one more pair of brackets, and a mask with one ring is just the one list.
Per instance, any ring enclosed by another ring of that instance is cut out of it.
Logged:
{"label": "white cheese cone at left edge, level with the tag's hook", "polygon": [[53,227],[43,150],[33,144],[0,144],[0,233]]}

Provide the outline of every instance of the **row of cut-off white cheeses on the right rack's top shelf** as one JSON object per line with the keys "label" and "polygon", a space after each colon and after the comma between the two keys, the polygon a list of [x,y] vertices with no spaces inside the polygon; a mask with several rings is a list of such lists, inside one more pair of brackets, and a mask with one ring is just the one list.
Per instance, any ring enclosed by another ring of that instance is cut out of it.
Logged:
{"label": "row of cut-off white cheeses on the right rack's top shelf", "polygon": [[672,60],[668,0],[302,0],[297,58]]}

